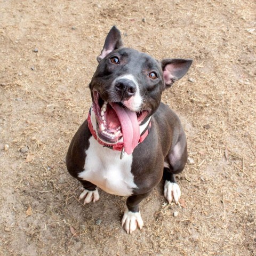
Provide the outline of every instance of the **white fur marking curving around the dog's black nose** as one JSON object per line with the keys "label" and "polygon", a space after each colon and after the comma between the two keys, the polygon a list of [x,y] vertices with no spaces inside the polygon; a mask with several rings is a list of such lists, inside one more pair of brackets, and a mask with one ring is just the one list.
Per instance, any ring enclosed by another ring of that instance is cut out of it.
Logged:
{"label": "white fur marking curving around the dog's black nose", "polygon": [[135,85],[136,85],[136,93],[134,96],[132,96],[129,100],[125,100],[123,104],[125,107],[129,108],[132,111],[139,111],[141,108],[142,104],[142,97],[140,95],[140,89],[139,89],[139,84],[135,77],[133,75],[124,75],[124,76],[119,76],[113,81],[113,85],[119,80],[119,79],[129,79],[131,80]]}

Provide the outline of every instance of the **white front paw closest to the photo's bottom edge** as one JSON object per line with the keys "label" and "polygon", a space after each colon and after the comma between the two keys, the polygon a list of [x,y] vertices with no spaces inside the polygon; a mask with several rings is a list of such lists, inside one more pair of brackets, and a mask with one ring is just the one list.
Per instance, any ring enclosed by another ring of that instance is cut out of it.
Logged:
{"label": "white front paw closest to the photo's bottom edge", "polygon": [[126,206],[122,219],[122,227],[124,227],[127,234],[132,234],[137,226],[139,229],[142,229],[143,226],[143,220],[141,218],[140,212],[129,212]]}

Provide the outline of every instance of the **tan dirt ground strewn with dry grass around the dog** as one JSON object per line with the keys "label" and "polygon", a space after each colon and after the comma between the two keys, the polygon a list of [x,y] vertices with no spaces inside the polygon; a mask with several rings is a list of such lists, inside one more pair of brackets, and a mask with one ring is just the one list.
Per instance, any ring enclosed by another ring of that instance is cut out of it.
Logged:
{"label": "tan dirt ground strewn with dry grass around the dog", "polygon": [[[254,0],[1,0],[0,255],[256,255],[255,10]],[[194,60],[162,98],[194,160],[177,176],[183,207],[159,184],[132,235],[126,198],[100,191],[83,206],[64,162],[113,25],[126,46]]]}

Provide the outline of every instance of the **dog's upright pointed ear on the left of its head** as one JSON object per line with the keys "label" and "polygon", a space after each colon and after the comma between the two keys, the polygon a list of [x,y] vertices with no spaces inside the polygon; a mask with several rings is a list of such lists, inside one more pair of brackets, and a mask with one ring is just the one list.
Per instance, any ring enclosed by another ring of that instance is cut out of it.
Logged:
{"label": "dog's upright pointed ear on the left of its head", "polygon": [[103,50],[101,51],[101,54],[97,57],[97,61],[100,62],[100,60],[105,58],[110,52],[121,48],[122,46],[123,42],[121,39],[121,32],[117,29],[116,26],[113,26],[106,37]]}

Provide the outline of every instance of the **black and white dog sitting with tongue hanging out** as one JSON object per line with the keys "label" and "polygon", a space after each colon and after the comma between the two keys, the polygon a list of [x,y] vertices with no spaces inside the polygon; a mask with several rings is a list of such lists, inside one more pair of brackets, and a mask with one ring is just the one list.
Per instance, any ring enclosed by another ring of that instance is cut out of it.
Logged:
{"label": "black and white dog sitting with tongue hanging out", "polygon": [[161,95],[187,73],[192,60],[158,61],[126,48],[115,26],[97,60],[89,84],[92,107],[70,143],[66,165],[82,183],[84,204],[99,200],[98,188],[128,196],[122,226],[131,234],[143,226],[140,202],[162,177],[164,197],[179,201],[174,175],[187,162],[186,135]]}

